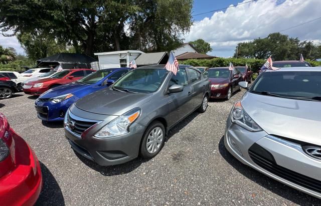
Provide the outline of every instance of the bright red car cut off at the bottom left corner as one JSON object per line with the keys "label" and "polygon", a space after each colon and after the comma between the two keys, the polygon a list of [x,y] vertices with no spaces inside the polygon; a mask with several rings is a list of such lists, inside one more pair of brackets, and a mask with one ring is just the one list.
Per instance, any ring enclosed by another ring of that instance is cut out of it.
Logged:
{"label": "bright red car cut off at the bottom left corner", "polygon": [[0,113],[0,205],[33,205],[41,188],[38,158]]}

